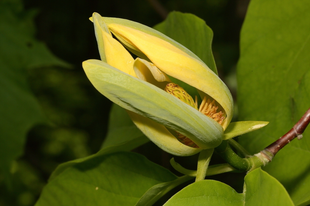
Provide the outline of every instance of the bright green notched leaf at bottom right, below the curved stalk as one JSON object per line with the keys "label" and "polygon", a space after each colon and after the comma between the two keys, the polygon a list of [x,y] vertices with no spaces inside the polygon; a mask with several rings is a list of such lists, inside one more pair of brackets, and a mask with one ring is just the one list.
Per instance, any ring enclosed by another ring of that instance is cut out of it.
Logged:
{"label": "bright green notched leaf at bottom right, below the curved stalk", "polygon": [[246,175],[243,193],[215,180],[193,183],[170,198],[164,206],[294,206],[285,188],[260,168]]}

